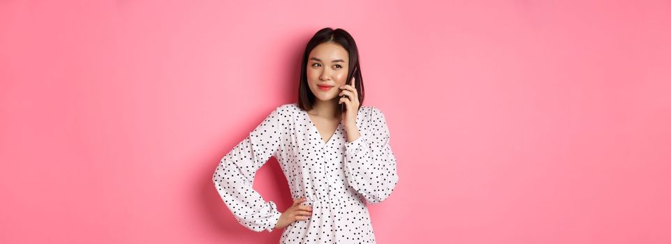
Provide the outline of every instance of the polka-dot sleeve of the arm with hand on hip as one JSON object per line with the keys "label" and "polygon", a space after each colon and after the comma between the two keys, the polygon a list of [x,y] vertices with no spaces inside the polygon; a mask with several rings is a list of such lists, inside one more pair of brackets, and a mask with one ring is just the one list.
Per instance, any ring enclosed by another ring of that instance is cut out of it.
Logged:
{"label": "polka-dot sleeve of the arm with hand on hip", "polygon": [[212,176],[219,196],[237,221],[256,232],[272,232],[281,215],[273,201],[265,201],[252,188],[256,171],[280,148],[279,116],[278,107],[221,158]]}

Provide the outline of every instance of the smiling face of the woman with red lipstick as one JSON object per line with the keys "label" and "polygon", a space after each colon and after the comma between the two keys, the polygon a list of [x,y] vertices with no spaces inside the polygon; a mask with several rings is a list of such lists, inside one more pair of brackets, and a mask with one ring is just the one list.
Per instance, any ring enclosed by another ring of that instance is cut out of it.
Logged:
{"label": "smiling face of the woman with red lipstick", "polygon": [[349,54],[336,43],[321,43],[312,49],[307,61],[307,84],[318,100],[339,100],[347,79]]}

